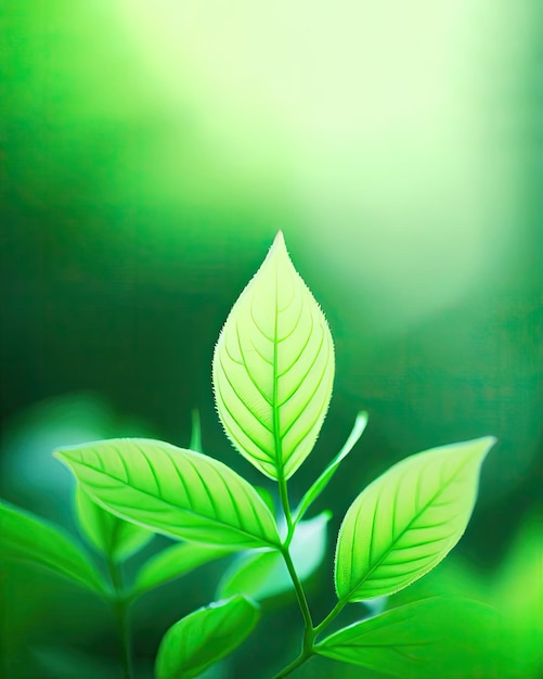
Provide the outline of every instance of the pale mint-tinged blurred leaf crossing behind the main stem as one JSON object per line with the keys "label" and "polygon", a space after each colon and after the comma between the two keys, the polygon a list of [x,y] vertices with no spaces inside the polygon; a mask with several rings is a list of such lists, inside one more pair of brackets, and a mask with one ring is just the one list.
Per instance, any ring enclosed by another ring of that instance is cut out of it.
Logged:
{"label": "pale mint-tinged blurred leaf crossing behind the main stem", "polygon": [[[324,512],[296,526],[290,543],[290,556],[301,581],[321,565],[326,552],[326,525],[329,512]],[[283,556],[277,551],[259,551],[242,555],[224,574],[219,597],[246,594],[262,601],[293,589]]]}

